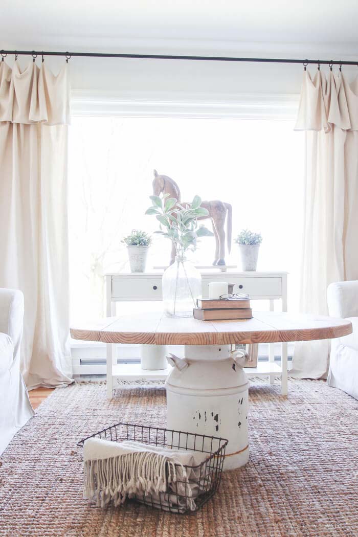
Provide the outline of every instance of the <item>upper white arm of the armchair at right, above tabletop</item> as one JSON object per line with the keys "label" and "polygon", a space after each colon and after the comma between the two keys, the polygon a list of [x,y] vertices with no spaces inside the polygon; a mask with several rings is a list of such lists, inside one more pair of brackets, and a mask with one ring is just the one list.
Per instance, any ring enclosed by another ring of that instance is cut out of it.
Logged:
{"label": "upper white arm of the armchair at right, above tabletop", "polygon": [[358,280],[328,285],[327,302],[332,317],[358,317]]}

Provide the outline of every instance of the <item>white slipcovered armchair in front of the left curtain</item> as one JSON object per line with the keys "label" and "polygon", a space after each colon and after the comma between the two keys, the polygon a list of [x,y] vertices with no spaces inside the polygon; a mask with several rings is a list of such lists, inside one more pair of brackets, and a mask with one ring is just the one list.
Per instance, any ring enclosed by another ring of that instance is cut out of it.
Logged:
{"label": "white slipcovered armchair in front of the left curtain", "polygon": [[34,415],[20,373],[24,295],[0,289],[0,454],[14,434]]}

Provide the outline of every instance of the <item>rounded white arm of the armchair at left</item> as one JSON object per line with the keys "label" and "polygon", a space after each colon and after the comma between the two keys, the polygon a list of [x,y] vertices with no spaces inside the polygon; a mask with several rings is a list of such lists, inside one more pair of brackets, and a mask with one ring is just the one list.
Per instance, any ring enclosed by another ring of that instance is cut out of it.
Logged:
{"label": "rounded white arm of the armchair at left", "polygon": [[24,295],[16,289],[0,288],[0,332],[11,337],[14,359],[20,352],[24,328]]}

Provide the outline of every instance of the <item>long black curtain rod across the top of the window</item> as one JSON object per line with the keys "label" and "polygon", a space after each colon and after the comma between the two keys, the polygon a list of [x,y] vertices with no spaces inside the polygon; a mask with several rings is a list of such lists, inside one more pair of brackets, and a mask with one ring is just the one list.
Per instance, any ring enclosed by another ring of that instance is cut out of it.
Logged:
{"label": "long black curtain rod across the top of the window", "polygon": [[255,63],[302,63],[319,64],[319,65],[339,65],[339,66],[358,66],[358,61],[337,61],[337,60],[297,60],[286,58],[245,58],[233,56],[181,56],[173,54],[114,54],[102,52],[49,52],[48,50],[1,50],[2,57],[6,55],[15,56],[65,56],[70,57],[90,57],[90,58],[134,58],[143,60],[199,60],[199,61],[216,61],[216,62],[255,62]]}

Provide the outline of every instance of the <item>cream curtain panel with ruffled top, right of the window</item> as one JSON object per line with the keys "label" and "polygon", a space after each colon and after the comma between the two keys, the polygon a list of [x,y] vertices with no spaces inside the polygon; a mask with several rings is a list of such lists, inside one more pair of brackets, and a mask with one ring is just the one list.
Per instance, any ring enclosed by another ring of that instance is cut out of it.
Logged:
{"label": "cream curtain panel with ruffled top, right of the window", "polygon": [[[296,130],[306,131],[300,309],[328,315],[327,286],[358,279],[358,77],[304,72]],[[321,378],[329,342],[298,343],[291,374]]]}

